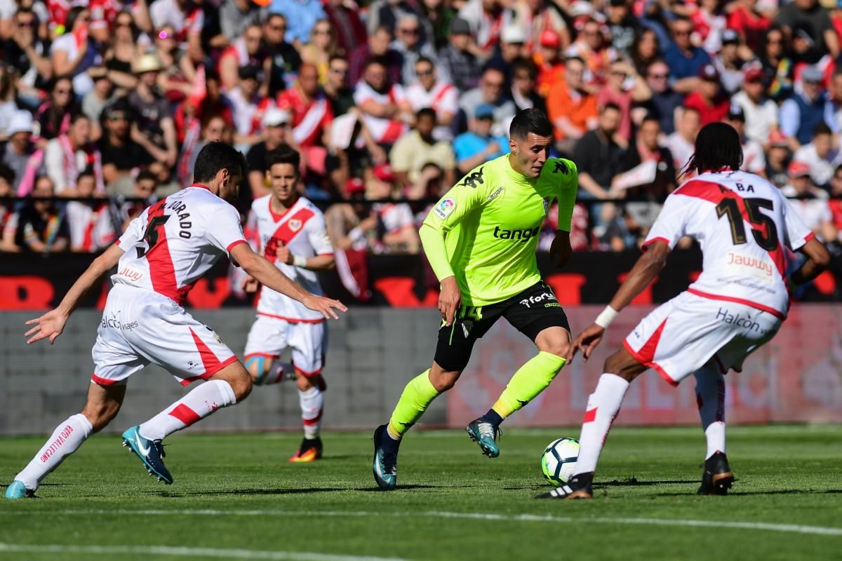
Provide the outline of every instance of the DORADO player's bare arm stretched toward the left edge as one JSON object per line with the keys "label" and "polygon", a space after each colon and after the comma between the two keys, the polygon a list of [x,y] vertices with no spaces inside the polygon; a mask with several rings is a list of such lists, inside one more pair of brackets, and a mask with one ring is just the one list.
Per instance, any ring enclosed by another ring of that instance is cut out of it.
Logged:
{"label": "DORADO player's bare arm stretched toward the left edge", "polygon": [[26,325],[35,325],[35,327],[25,333],[25,336],[29,337],[26,343],[31,345],[35,341],[49,337],[52,345],[53,341],[56,341],[56,337],[61,335],[61,331],[64,331],[67,319],[73,313],[73,310],[76,310],[85,294],[88,294],[88,290],[99,281],[100,277],[117,265],[124,252],[117,244],[110,246],[102,255],[94,259],[88,269],[82,273],[82,276],[73,283],[73,286],[70,287],[55,310],[51,310],[35,320],[27,321]]}

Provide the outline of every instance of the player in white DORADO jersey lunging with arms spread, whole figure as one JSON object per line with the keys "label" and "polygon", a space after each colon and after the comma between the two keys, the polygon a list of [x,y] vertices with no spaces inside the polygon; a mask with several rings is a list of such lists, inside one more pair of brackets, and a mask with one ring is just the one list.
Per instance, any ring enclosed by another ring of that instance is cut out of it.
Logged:
{"label": "player in white DORADO jersey lunging with arms spread, whole figure", "polygon": [[166,484],[164,437],[221,407],[246,398],[252,380],[242,363],[207,325],[182,305],[189,289],[227,254],[253,278],[296,299],[323,317],[345,310],[337,300],[310,294],[254,253],[242,235],[237,198],[246,161],[231,146],[211,143],[197,156],[195,183],[164,198],[131,221],[113,246],[97,257],[55,310],[35,320],[29,344],[56,341],[88,290],[113,267],[117,273],[93,346],[93,376],[81,413],[56,427],[35,458],[15,476],[7,499],[32,496],[42,479],[120,410],[128,378],[149,363],[166,368],[181,384],[206,380],[182,399],[123,433],[124,445]]}

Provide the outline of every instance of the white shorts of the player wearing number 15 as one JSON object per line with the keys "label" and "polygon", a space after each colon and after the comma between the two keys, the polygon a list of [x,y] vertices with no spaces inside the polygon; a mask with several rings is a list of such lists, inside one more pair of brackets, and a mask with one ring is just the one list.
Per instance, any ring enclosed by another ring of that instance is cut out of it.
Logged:
{"label": "white shorts of the player wearing number 15", "polygon": [[781,318],[746,304],[683,292],[640,320],[623,345],[638,363],[678,383],[713,361],[740,372],[745,357],[775,336]]}

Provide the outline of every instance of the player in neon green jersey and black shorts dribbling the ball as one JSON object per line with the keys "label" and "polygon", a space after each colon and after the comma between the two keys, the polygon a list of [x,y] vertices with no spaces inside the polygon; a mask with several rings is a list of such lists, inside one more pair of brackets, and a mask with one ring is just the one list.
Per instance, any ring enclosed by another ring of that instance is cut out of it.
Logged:
{"label": "player in neon green jersey and black shorts dribbling the ball", "polygon": [[550,158],[552,123],[538,109],[520,111],[509,129],[511,153],[472,170],[430,210],[421,241],[441,283],[442,322],[434,362],[407,384],[387,425],[374,433],[374,477],[382,490],[397,484],[401,438],[429,404],[456,384],[473,344],[500,317],[538,347],[514,373],[488,413],[466,431],[489,458],[500,451],[500,423],[541,393],[562,369],[570,346],[568,318],[536,263],[538,233],[553,199],[558,231],[550,254],[557,267],[570,257],[570,219],[578,172]]}

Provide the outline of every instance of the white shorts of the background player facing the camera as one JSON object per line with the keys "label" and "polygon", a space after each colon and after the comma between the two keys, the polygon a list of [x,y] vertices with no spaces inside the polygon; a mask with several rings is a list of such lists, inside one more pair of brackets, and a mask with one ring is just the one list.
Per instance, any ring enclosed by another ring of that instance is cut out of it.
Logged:
{"label": "white shorts of the background player facing the camera", "polygon": [[328,326],[324,321],[293,322],[258,314],[248,331],[246,356],[278,358],[292,349],[292,365],[305,376],[315,376],[324,367],[328,347]]}

